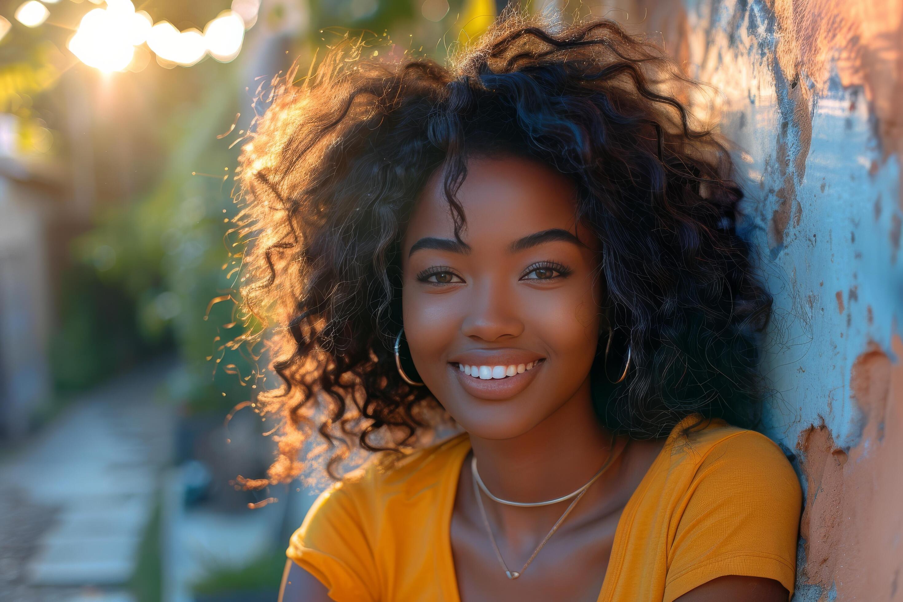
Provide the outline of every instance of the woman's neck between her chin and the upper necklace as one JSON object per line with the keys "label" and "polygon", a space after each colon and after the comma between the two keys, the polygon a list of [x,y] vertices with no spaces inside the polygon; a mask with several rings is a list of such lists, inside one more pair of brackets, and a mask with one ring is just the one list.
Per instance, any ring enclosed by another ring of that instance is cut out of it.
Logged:
{"label": "woman's neck between her chin and the upper necklace", "polygon": [[506,440],[470,436],[479,476],[493,495],[513,502],[540,502],[585,485],[608,458],[610,442],[610,431],[593,412],[589,379],[522,435]]}

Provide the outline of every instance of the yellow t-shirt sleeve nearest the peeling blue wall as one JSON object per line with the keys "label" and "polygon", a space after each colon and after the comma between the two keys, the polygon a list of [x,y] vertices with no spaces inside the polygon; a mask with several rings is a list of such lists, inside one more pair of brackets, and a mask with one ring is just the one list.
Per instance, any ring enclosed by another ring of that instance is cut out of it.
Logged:
{"label": "yellow t-shirt sleeve nearest the peeling blue wall", "polygon": [[791,596],[802,491],[783,452],[740,431],[712,446],[677,518],[664,602],[726,575],[776,579]]}

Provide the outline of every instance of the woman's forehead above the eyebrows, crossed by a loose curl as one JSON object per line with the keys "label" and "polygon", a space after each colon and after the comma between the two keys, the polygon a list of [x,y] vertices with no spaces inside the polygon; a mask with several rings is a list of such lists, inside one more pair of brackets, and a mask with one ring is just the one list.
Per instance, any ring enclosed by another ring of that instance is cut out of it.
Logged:
{"label": "woman's forehead above the eyebrows, crossed by a loose curl", "polygon": [[[575,232],[575,190],[563,174],[520,157],[472,158],[457,199],[469,245],[507,245],[547,228]],[[442,170],[433,173],[414,207],[405,249],[422,236],[454,237],[454,221],[443,190]],[[583,233],[577,233],[584,240]],[[586,242],[584,240],[584,242]]]}

